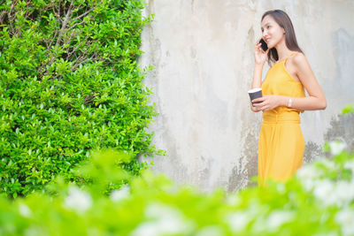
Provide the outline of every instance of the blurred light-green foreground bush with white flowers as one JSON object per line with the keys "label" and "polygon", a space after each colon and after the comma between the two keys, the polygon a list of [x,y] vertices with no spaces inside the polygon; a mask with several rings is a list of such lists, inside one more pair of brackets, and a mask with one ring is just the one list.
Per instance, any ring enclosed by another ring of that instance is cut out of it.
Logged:
{"label": "blurred light-green foreground bush with white flowers", "polygon": [[[91,179],[78,187],[60,178],[50,194],[0,197],[1,235],[353,235],[354,153],[327,145],[334,159],[305,165],[285,183],[238,193],[204,194],[177,186],[149,170],[133,177],[114,164],[125,153],[95,154],[75,173]],[[130,177],[129,177],[130,176]],[[129,185],[107,196],[107,184]]]}

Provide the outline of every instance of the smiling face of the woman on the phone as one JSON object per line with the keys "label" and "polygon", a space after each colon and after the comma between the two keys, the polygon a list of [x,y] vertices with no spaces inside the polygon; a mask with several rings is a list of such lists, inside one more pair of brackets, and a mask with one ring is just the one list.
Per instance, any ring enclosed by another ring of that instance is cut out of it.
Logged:
{"label": "smiling face of the woman on the phone", "polygon": [[285,38],[285,30],[278,25],[271,15],[266,15],[262,20],[261,30],[262,38],[270,49],[274,48],[276,44]]}

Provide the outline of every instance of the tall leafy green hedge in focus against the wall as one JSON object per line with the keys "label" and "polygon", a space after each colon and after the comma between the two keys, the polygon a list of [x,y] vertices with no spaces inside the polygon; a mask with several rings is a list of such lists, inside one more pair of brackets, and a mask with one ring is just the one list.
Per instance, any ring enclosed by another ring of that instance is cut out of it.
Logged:
{"label": "tall leafy green hedge in focus against the wall", "polygon": [[[146,128],[156,115],[145,69],[139,0],[2,1],[0,191],[41,189],[91,150],[159,153]],[[133,159],[123,167],[138,175]]]}

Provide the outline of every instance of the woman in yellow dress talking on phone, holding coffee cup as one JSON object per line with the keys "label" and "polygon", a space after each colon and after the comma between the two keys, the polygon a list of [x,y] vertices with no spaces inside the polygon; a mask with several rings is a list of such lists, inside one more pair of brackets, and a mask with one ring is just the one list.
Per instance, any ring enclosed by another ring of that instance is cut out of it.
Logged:
{"label": "woman in yellow dress talking on phone, holding coffee cup", "polygon": [[[263,97],[254,99],[250,108],[263,111],[258,142],[258,186],[266,186],[266,179],[284,181],[303,165],[304,137],[299,112],[324,110],[327,102],[297,45],[288,14],[281,10],[266,11],[261,30],[262,37],[254,51],[252,88],[262,88]],[[266,51],[261,48],[261,39],[268,46]],[[266,61],[272,67],[262,83]]]}

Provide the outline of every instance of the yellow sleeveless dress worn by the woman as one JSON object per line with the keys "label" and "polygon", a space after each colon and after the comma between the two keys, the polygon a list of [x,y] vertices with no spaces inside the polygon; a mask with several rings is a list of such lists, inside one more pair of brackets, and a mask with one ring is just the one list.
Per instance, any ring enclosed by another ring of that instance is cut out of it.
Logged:
{"label": "yellow sleeveless dress worn by the woman", "polygon": [[[304,97],[304,86],[286,70],[286,60],[273,65],[262,83],[263,95]],[[299,112],[289,107],[277,107],[263,112],[258,142],[258,186],[266,186],[266,179],[285,181],[302,165],[304,136]]]}

